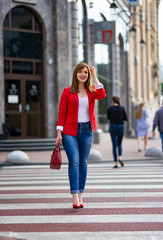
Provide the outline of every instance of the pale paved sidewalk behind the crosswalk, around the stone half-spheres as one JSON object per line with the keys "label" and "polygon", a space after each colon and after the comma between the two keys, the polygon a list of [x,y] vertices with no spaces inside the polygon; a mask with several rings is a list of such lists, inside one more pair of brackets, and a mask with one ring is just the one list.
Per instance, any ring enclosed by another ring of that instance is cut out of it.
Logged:
{"label": "pale paved sidewalk behind the crosswalk, around the stone half-spheres", "polygon": [[[152,135],[149,134],[148,147],[159,147],[161,149],[161,139],[159,133],[156,133],[156,138],[151,139]],[[112,143],[109,133],[100,134],[100,143],[93,144],[92,148],[99,151],[103,156],[103,161],[113,161],[112,156]],[[144,157],[145,151],[143,150],[143,140],[142,140],[142,152],[137,150],[137,140],[136,138],[124,138],[123,139],[123,159],[125,160],[135,160],[135,159],[151,159],[151,157]],[[0,152],[0,162],[6,160],[9,152]],[[52,151],[26,151],[30,161],[48,163],[50,161],[50,156]],[[63,162],[67,162],[67,157],[65,151],[61,151]]]}

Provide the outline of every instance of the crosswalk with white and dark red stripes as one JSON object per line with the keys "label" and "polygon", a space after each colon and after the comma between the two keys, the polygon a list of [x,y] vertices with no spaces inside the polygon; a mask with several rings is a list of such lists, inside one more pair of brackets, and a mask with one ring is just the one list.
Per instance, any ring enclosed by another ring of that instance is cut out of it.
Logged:
{"label": "crosswalk with white and dark red stripes", "polygon": [[163,239],[163,160],[89,163],[83,209],[72,209],[67,164],[0,170],[0,239]]}

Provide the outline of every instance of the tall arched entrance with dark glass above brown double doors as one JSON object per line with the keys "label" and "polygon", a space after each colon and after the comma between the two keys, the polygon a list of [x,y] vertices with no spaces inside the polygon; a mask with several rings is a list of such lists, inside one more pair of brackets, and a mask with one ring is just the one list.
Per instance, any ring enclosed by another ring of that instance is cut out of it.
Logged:
{"label": "tall arched entrance with dark glass above brown double doors", "polygon": [[11,138],[44,136],[42,30],[25,7],[4,21],[5,127]]}

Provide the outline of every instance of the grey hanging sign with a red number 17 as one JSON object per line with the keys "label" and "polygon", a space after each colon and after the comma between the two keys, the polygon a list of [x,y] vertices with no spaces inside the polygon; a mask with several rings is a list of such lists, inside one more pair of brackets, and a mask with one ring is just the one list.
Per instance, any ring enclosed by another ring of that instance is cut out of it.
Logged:
{"label": "grey hanging sign with a red number 17", "polygon": [[115,21],[95,22],[95,43],[115,43]]}

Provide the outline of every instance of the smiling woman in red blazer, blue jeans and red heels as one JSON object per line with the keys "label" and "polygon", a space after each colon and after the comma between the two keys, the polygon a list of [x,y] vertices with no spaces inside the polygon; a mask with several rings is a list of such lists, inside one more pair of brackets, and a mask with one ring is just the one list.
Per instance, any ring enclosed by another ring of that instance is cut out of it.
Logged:
{"label": "smiling woman in red blazer, blue jeans and red heels", "polygon": [[84,207],[82,194],[86,184],[88,157],[93,131],[97,130],[95,99],[105,97],[96,68],[79,63],[74,69],[71,86],[63,90],[60,99],[56,138],[56,144],[63,144],[68,157],[73,208]]}

